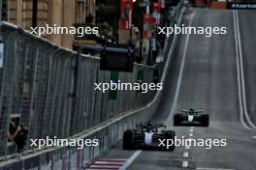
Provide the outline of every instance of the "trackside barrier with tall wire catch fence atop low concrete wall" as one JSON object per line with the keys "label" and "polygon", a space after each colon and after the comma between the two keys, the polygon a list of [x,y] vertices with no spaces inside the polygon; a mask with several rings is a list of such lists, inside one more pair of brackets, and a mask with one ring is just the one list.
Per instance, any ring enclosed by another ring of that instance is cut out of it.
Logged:
{"label": "trackside barrier with tall wire catch fence atop low concrete wall", "polygon": [[[181,17],[181,8],[181,4],[176,7],[172,24]],[[0,170],[85,169],[116,145],[124,130],[149,120],[155,113],[161,91],[118,92],[114,100],[109,99],[109,94],[93,91],[93,82],[109,82],[111,76],[110,71],[99,71],[99,59],[93,57],[82,58],[80,95],[71,98],[76,53],[7,23],[1,23],[1,30],[4,56],[0,71]],[[161,82],[169,70],[175,44],[174,37],[166,41]],[[119,72],[120,79],[136,82],[138,71],[144,71],[144,82],[153,82],[155,68],[134,67],[133,73]],[[48,135],[50,138],[99,139],[99,145],[80,150],[27,148],[21,156],[8,154],[6,135],[11,114],[20,114],[21,123],[29,128],[28,138],[44,139]]]}

